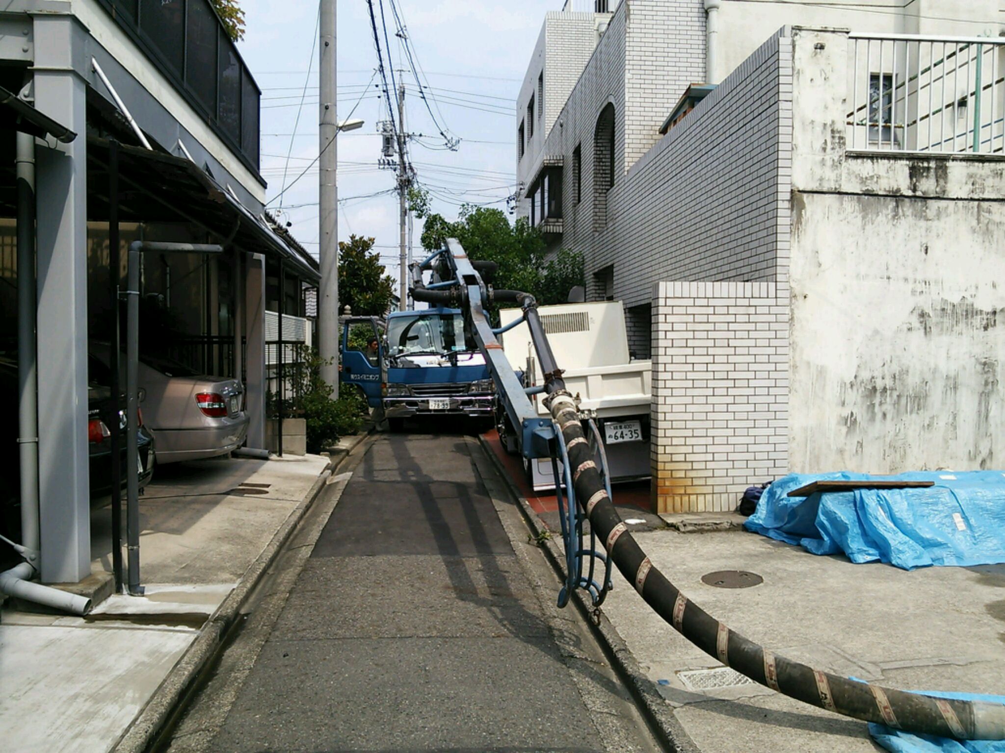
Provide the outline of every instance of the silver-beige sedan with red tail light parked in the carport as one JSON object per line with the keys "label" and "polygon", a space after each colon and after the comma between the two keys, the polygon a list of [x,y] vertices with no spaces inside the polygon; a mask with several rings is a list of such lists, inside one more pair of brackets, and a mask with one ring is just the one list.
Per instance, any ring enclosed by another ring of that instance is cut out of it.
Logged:
{"label": "silver-beige sedan with red tail light parked in the carport", "polygon": [[[108,367],[107,343],[91,343],[90,352]],[[125,378],[125,355],[122,360]],[[158,463],[215,458],[244,444],[248,415],[237,380],[149,356],[141,356],[137,376],[146,393],[141,410],[157,441]]]}

